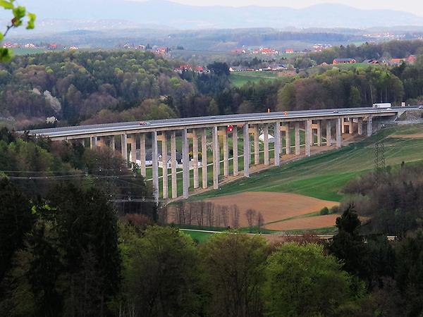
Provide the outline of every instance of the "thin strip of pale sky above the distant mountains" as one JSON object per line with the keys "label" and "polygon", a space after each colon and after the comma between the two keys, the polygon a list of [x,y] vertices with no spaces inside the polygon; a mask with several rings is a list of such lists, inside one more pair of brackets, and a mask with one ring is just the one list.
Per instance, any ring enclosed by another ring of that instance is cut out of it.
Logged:
{"label": "thin strip of pale sky above the distant mountains", "polygon": [[[142,1],[142,0],[138,0]],[[407,11],[423,16],[423,0],[171,0],[180,4],[195,6],[288,6],[291,8],[304,8],[313,4],[338,3],[362,9],[392,9]]]}

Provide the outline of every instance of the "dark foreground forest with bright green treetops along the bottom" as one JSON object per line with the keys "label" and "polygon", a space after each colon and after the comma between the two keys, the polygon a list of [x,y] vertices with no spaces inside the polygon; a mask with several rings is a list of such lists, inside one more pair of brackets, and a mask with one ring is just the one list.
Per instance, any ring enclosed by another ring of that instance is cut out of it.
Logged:
{"label": "dark foreground forest with bright green treetops along the bottom", "polygon": [[[270,243],[259,235],[230,231],[200,244],[163,225],[161,211],[148,202],[137,209],[114,204],[110,194],[116,193],[107,184],[123,167],[117,158],[110,162],[102,151],[65,144],[52,147],[46,140],[18,138],[5,129],[0,146],[1,170],[16,169],[0,179],[1,316],[362,317],[423,312],[423,232],[418,225],[388,242],[389,225],[369,230],[347,204],[329,242],[310,234]],[[109,162],[102,166],[109,167],[109,177],[102,179],[96,166],[90,166],[93,156],[97,163]],[[82,178],[68,178],[80,169],[85,170]],[[67,178],[60,177],[62,171]],[[415,194],[421,180],[415,171],[404,166],[387,173],[392,186],[416,190],[398,192],[389,201],[380,197],[372,209],[402,209],[418,222],[421,214],[415,209],[420,210],[421,199]],[[148,197],[151,189],[140,176],[132,177],[140,178],[133,182]],[[117,194],[128,194],[128,189],[113,187],[123,190]],[[354,188],[352,183],[345,190]],[[409,192],[416,199],[405,204]],[[401,193],[405,196],[398,199]]]}

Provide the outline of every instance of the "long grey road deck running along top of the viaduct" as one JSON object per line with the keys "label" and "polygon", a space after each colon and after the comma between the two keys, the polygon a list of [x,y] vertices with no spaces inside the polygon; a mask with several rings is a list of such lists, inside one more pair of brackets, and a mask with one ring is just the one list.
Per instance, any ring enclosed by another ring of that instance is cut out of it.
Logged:
{"label": "long grey road deck running along top of the viaduct", "polygon": [[[78,135],[95,135],[97,133],[110,132],[116,134],[116,132],[130,132],[131,130],[152,130],[152,129],[168,129],[168,128],[195,128],[199,125],[226,125],[244,123],[248,121],[266,121],[266,120],[287,120],[287,119],[306,119],[314,118],[319,119],[320,117],[337,117],[337,116],[389,116],[396,115],[398,112],[403,111],[415,111],[418,110],[419,106],[407,106],[407,107],[392,107],[392,108],[336,108],[336,109],[323,109],[323,110],[307,110],[307,111],[288,111],[288,112],[272,112],[272,113],[245,113],[225,116],[205,116],[205,117],[192,117],[192,118],[176,118],[166,120],[151,120],[147,121],[147,124],[140,125],[138,121],[125,122],[125,123],[104,123],[97,125],[77,125],[72,127],[61,127],[61,128],[48,128],[48,129],[37,129],[30,130],[31,135],[37,135],[40,137],[55,137],[55,138],[66,138],[75,137]],[[23,131],[20,131],[23,132]],[[147,132],[147,131],[146,131]]]}

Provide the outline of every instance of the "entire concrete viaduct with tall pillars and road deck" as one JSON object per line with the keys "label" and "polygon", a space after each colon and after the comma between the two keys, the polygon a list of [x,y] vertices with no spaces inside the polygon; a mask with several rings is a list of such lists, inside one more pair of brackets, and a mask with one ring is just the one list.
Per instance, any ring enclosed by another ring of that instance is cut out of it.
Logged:
{"label": "entire concrete viaduct with tall pillars and road deck", "polygon": [[[228,176],[229,170],[229,142],[232,138],[233,175],[243,173],[250,175],[251,136],[253,137],[254,164],[259,163],[259,130],[264,135],[264,165],[269,166],[269,130],[274,133],[274,166],[279,166],[282,154],[310,156],[311,147],[340,148],[342,134],[370,136],[373,133],[374,118],[391,116],[396,118],[405,111],[414,111],[417,107],[398,108],[338,108],[312,111],[289,111],[274,113],[247,113],[227,116],[207,116],[199,118],[178,118],[168,120],[153,120],[147,123],[108,123],[99,125],[80,125],[64,128],[49,128],[30,130],[30,135],[36,137],[49,137],[53,141],[80,142],[84,146],[90,144],[92,149],[97,147],[111,147],[116,150],[115,139],[120,136],[121,155],[123,159],[131,162],[136,160],[136,151],[140,151],[140,170],[146,175],[145,154],[146,139],[151,142],[152,149],[152,182],[154,199],[159,201],[159,161],[158,143],[161,142],[162,162],[168,161],[168,144],[171,143],[171,193],[168,192],[168,178],[163,178],[161,198],[177,198],[176,181],[176,135],[182,137],[182,167],[183,167],[183,198],[188,198],[190,189],[190,154],[189,144],[192,139],[192,168],[194,174],[193,187],[200,187],[199,169],[202,169],[202,188],[207,188],[207,143],[212,144],[213,161],[213,188],[219,188],[220,146],[219,136],[223,139],[223,177]],[[233,126],[233,131],[228,132],[227,127]],[[305,149],[300,149],[300,129],[305,131]],[[210,133],[211,130],[211,133]],[[290,144],[290,133],[294,132],[294,144]],[[324,132],[324,133],[322,133]],[[243,168],[238,166],[238,135],[243,135]],[[325,135],[325,137],[322,137]],[[317,142],[314,142],[316,139]],[[211,137],[211,139],[210,139]],[[200,149],[199,149],[199,138]],[[285,153],[282,151],[282,139],[285,138]],[[207,140],[211,142],[207,142]],[[293,149],[291,149],[293,148]],[[199,164],[199,151],[201,160]],[[167,175],[168,166],[162,164],[164,175]]]}

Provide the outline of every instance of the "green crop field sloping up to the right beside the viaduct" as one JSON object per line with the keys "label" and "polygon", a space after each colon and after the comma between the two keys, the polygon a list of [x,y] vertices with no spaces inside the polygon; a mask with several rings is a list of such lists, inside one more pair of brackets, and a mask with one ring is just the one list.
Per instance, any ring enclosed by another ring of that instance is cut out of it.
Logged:
{"label": "green crop field sloping up to the right beside the viaduct", "polygon": [[339,150],[326,151],[278,168],[270,168],[192,199],[240,192],[293,192],[309,197],[340,201],[340,189],[361,173],[374,168],[374,143],[384,139],[386,165],[423,161],[423,139],[395,138],[399,134],[423,132],[423,125],[386,128],[378,134]]}

